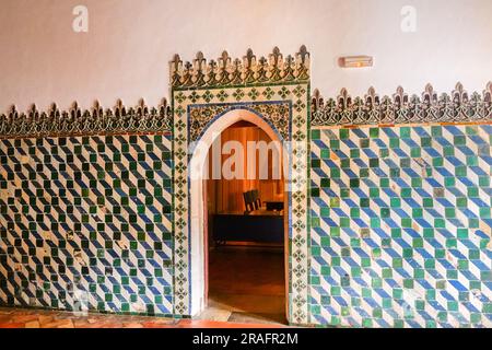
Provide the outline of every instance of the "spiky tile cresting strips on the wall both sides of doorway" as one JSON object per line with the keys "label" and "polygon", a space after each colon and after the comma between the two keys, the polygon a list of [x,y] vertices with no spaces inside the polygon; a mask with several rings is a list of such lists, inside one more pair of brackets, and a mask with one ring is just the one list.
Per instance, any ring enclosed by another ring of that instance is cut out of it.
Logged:
{"label": "spiky tile cresting strips on the wall both sides of doorway", "polygon": [[[43,138],[91,135],[172,132],[174,113],[165,98],[157,107],[148,107],[143,100],[136,107],[125,107],[119,100],[113,109],[98,102],[82,110],[75,102],[68,110],[52,104],[48,112],[33,105],[26,113],[15,106],[0,115],[0,138]],[[311,98],[313,127],[394,127],[422,124],[492,122],[492,82],[480,95],[468,94],[461,83],[440,97],[427,84],[422,97],[409,96],[399,86],[391,97],[379,97],[371,88],[364,97],[352,98],[345,89],[338,97],[325,100],[318,90]]]}

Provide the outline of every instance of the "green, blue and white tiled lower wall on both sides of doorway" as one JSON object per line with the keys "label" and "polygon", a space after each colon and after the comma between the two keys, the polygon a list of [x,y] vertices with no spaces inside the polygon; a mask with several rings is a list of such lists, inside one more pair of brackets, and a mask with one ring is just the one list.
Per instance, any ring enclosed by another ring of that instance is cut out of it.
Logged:
{"label": "green, blue and white tiled lower wall on both sides of doorway", "polygon": [[[492,326],[492,126],[312,138],[312,322]],[[0,140],[0,303],[173,314],[169,149]]]}

